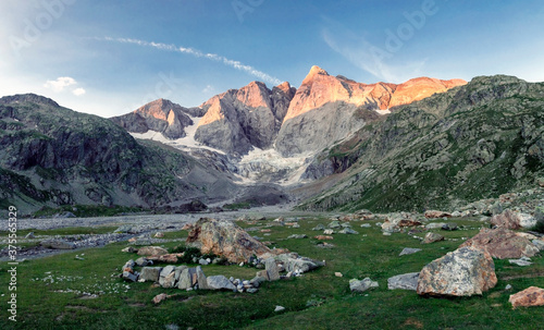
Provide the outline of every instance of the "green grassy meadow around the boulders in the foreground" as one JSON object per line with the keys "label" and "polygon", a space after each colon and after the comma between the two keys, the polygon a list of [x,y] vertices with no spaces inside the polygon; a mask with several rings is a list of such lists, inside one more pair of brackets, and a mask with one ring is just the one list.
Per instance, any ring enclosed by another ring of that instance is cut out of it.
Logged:
{"label": "green grassy meadow around the boulders in the foreground", "polygon": [[[508,296],[528,286],[544,288],[544,260],[533,258],[529,267],[495,260],[497,285],[483,296],[424,298],[412,291],[387,290],[387,278],[421,270],[431,260],[454,250],[462,237],[474,235],[484,223],[455,221],[463,227],[441,231],[446,241],[421,245],[406,233],[382,235],[378,221],[351,222],[358,235],[335,234],[334,248],[322,248],[311,231],[327,219],[304,218],[300,228],[272,227],[270,235],[252,234],[302,256],[326,260],[326,266],[304,277],[264,283],[256,294],[181,291],[154,288],[151,283],[127,283],[116,277],[122,265],[136,255],[122,253],[124,243],[28,260],[17,267],[17,322],[8,320],[10,292],[7,262],[0,264],[0,329],[544,329],[544,307],[512,310]],[[242,227],[262,227],[238,222]],[[76,232],[69,230],[67,232]],[[286,239],[305,233],[310,239]],[[4,234],[4,233],[0,233]],[[42,233],[40,233],[42,234]],[[168,233],[180,239],[187,232]],[[423,236],[424,233],[419,233]],[[166,243],[173,248],[177,242]],[[423,250],[399,257],[404,247]],[[75,255],[84,254],[84,260]],[[206,266],[207,276],[224,274],[251,279],[255,268]],[[334,276],[342,272],[343,278]],[[362,294],[349,292],[349,279],[370,277],[380,288]],[[511,291],[505,291],[507,284]],[[159,293],[175,294],[153,305]],[[98,297],[89,297],[97,294]],[[276,305],[284,306],[274,313]],[[175,329],[175,328],[172,328]]]}

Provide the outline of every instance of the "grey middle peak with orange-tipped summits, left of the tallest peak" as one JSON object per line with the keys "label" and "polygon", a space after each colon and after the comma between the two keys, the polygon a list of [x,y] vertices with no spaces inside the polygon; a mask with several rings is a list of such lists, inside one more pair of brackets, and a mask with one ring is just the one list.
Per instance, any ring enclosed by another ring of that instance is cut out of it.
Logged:
{"label": "grey middle peak with orange-tipped summits, left of the tallest peak", "polygon": [[217,95],[201,106],[207,112],[195,139],[227,152],[246,154],[254,146],[269,148],[293,95],[288,83],[270,90],[259,82]]}

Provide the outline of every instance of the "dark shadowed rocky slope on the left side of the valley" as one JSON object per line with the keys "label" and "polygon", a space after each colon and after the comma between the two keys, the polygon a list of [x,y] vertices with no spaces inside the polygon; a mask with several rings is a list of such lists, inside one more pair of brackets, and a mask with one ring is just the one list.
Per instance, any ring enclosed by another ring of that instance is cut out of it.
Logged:
{"label": "dark shadowed rocky slope on the left side of the valley", "polygon": [[[185,181],[198,167],[182,152],[139,144],[110,120],[62,108],[45,97],[1,98],[0,127],[0,203],[36,209],[64,204],[159,206],[206,198]],[[220,181],[211,176],[210,183],[195,182],[210,186]],[[223,185],[228,187],[227,182]]]}

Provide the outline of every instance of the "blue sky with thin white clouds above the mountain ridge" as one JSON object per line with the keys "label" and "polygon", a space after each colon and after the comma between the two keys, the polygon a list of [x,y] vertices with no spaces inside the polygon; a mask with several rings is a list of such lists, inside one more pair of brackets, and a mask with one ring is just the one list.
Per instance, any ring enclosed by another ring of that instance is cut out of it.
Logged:
{"label": "blue sky with thin white clouds above the mountain ridge", "polygon": [[198,106],[311,65],[362,83],[509,74],[544,81],[537,0],[2,0],[0,96],[101,117]]}

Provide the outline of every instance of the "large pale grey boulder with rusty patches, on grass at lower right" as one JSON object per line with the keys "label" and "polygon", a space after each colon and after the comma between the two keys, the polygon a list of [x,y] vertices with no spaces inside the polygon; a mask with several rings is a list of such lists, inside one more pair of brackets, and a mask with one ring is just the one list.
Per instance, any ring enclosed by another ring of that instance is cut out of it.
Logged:
{"label": "large pale grey boulder with rusty patches, on grass at lower right", "polygon": [[432,296],[471,296],[482,294],[496,283],[492,257],[475,247],[461,247],[423,267],[417,292]]}

